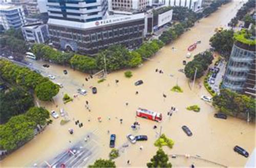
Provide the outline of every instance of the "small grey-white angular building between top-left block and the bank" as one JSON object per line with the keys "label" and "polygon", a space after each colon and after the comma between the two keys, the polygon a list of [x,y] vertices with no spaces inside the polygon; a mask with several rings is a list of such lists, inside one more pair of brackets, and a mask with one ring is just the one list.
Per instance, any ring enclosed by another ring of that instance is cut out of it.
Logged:
{"label": "small grey-white angular building between top-left block and the bank", "polygon": [[22,26],[23,37],[32,43],[45,43],[49,40],[48,25],[42,22]]}

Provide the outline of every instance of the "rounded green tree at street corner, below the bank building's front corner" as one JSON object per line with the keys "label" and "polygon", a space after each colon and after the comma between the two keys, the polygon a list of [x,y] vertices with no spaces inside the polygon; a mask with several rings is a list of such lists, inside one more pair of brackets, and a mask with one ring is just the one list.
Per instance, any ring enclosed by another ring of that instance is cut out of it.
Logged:
{"label": "rounded green tree at street corner, below the bank building's front corner", "polygon": [[72,57],[70,60],[70,64],[71,67],[82,72],[89,72],[91,70],[97,69],[96,60],[86,55],[75,54],[74,57]]}

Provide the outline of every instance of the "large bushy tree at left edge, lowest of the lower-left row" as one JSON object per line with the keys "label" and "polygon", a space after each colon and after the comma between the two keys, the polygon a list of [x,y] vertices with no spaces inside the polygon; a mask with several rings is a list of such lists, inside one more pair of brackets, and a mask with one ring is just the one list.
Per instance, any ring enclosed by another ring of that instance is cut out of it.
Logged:
{"label": "large bushy tree at left edge, lowest of the lower-left row", "polygon": [[6,124],[0,125],[0,147],[14,150],[34,136],[35,122],[27,121],[26,115],[12,117]]}

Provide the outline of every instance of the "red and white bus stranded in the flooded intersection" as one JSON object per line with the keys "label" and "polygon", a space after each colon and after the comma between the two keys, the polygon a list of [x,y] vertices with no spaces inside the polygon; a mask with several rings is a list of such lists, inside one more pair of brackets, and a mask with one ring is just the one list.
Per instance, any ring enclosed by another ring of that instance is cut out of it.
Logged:
{"label": "red and white bus stranded in the flooded intersection", "polygon": [[148,109],[143,109],[143,108],[138,108],[136,111],[136,115],[138,117],[142,117],[148,120],[153,120],[153,121],[157,121],[157,122],[161,122],[162,121],[162,114],[161,113],[157,113],[155,111],[151,111]]}

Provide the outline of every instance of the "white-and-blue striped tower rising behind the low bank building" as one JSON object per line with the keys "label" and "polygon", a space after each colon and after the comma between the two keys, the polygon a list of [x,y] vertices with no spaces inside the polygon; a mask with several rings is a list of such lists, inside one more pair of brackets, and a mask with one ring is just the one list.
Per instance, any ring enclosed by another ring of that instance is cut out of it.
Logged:
{"label": "white-and-blue striped tower rising behind the low bank building", "polygon": [[106,17],[108,1],[105,0],[48,0],[49,18],[76,22],[90,22]]}

